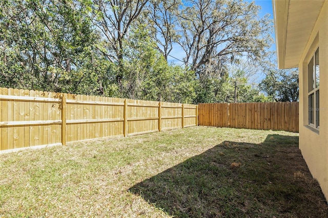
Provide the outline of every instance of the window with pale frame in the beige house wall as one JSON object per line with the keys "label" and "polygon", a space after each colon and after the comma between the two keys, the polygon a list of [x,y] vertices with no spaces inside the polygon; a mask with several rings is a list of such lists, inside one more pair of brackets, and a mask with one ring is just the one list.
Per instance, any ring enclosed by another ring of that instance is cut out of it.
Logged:
{"label": "window with pale frame in the beige house wall", "polygon": [[309,125],[319,128],[319,48],[314,53],[308,64],[308,100],[309,100]]}

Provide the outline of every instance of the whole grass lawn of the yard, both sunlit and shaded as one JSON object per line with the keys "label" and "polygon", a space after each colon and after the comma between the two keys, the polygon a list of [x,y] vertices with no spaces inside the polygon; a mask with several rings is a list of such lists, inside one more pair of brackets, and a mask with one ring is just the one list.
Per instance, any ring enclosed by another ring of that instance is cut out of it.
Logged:
{"label": "whole grass lawn of the yard, both sunlit and shaded", "polygon": [[0,217],[328,217],[298,134],[190,127],[0,155]]}

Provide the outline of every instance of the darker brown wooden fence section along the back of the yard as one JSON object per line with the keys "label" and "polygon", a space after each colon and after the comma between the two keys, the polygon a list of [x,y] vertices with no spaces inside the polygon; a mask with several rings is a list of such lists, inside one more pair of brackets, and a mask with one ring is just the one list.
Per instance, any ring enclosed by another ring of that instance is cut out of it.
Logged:
{"label": "darker brown wooden fence section along the back of the yard", "polygon": [[298,133],[298,110],[298,102],[198,104],[198,124]]}

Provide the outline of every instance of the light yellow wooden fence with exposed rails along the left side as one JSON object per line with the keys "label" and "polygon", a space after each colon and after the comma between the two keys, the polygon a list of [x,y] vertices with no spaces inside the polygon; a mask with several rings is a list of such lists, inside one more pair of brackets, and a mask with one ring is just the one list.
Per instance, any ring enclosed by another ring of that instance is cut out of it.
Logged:
{"label": "light yellow wooden fence with exposed rails along the left side", "polygon": [[0,151],[197,125],[197,105],[0,88]]}

